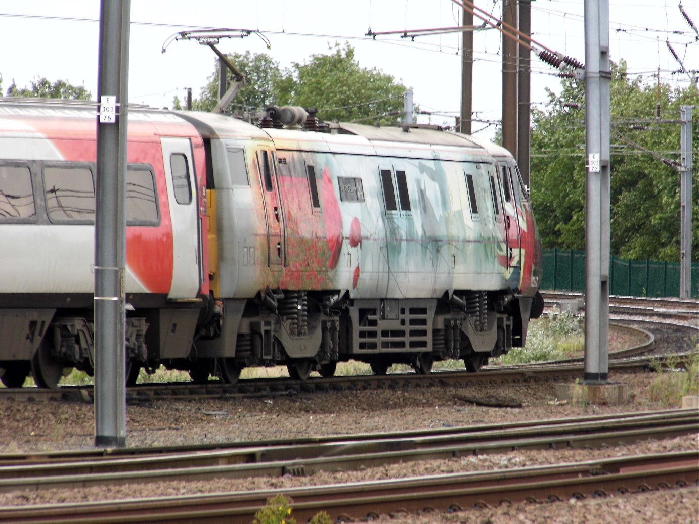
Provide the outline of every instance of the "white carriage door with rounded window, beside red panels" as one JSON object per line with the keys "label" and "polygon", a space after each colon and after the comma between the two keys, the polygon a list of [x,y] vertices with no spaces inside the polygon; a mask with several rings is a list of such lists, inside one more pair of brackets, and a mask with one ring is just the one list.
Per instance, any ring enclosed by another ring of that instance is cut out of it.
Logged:
{"label": "white carriage door with rounded window, beside red panels", "polygon": [[202,256],[192,143],[189,138],[160,140],[173,235],[173,279],[168,298],[192,298],[199,293]]}

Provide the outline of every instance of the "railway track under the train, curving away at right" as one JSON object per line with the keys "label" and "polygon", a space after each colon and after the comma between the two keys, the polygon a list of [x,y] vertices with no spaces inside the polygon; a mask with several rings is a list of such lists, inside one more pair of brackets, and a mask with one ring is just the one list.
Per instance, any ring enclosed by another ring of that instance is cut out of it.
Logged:
{"label": "railway track under the train, curving away at right", "polygon": [[[560,307],[566,300],[582,303],[583,296],[575,293],[545,293],[547,307]],[[657,337],[654,332],[664,330],[663,337],[672,337],[670,344],[664,347],[681,347],[683,340],[699,335],[699,301],[680,301],[677,299],[644,299],[637,297],[611,297],[610,310],[619,307],[624,311],[621,316],[614,316],[611,325],[617,330],[633,330],[644,337],[644,342],[634,347],[610,353],[610,372],[647,372],[651,367],[663,364],[667,357],[663,351],[653,351]],[[612,307],[614,306],[614,307]],[[629,318],[630,315],[635,315]],[[638,316],[661,320],[639,320]],[[693,322],[696,321],[696,326]],[[640,327],[643,326],[643,327]],[[668,332],[672,333],[668,333]],[[684,344],[689,347],[689,344]],[[629,358],[648,354],[647,358]],[[682,364],[691,357],[691,353],[677,353],[670,357],[673,364]],[[528,381],[561,381],[579,378],[584,371],[582,358],[565,361],[533,363],[513,366],[486,366],[481,373],[461,371],[433,372],[430,375],[416,375],[412,372],[389,373],[384,376],[361,375],[354,377],[312,377],[306,381],[292,379],[243,379],[237,384],[225,384],[220,381],[208,381],[197,384],[190,381],[169,383],[145,383],[130,387],[127,401],[152,402],[159,399],[176,400],[178,398],[233,398],[250,396],[275,396],[289,393],[309,393],[313,391],[344,391],[378,388],[433,387],[439,385],[468,386],[471,384],[517,384]],[[92,386],[62,386],[57,390],[41,388],[0,388],[0,400],[64,402],[94,401]]]}

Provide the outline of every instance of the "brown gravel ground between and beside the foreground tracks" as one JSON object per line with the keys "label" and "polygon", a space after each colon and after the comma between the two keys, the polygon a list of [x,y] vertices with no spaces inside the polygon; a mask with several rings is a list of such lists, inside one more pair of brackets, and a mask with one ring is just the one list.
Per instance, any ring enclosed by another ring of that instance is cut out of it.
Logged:
{"label": "brown gravel ground between and beside the foreground tracks", "polygon": [[[385,391],[345,391],[228,400],[164,400],[127,408],[127,445],[158,446],[198,442],[273,439],[307,435],[349,434],[457,425],[531,421],[563,417],[644,412],[660,409],[649,395],[655,374],[612,375],[627,384],[630,401],[623,406],[575,406],[554,398],[554,384],[433,387]],[[514,400],[521,408],[480,407],[469,398]],[[94,441],[91,405],[61,402],[0,402],[0,452],[85,449]],[[640,442],[600,450],[517,451],[502,455],[404,463],[358,472],[319,473],[307,477],[169,482],[84,490],[13,492],[0,505],[42,504],[134,497],[283,488],[361,479],[391,479],[442,472],[492,470],[572,462],[637,453],[698,449],[699,434]],[[386,517],[387,518],[387,517]],[[385,518],[384,518],[385,519]],[[464,511],[459,514],[395,516],[392,523],[628,523],[662,521],[699,523],[699,489],[671,490],[605,500],[559,502]]]}

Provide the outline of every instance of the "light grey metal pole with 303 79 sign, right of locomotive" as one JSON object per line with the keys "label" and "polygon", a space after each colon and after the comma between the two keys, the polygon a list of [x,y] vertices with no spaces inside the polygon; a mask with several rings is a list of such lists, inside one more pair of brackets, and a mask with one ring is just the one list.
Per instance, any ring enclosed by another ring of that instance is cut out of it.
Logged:
{"label": "light grey metal pole with 303 79 sign, right of locomotive", "polygon": [[585,0],[585,381],[607,381],[610,267],[608,0]]}

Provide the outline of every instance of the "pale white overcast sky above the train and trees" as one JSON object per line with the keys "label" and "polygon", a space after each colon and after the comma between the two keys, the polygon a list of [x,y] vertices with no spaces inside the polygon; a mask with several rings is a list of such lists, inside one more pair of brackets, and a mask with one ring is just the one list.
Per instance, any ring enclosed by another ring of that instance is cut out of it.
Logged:
{"label": "pale white overcast sky above the train and trees", "polygon": [[[501,1],[476,0],[495,17]],[[545,47],[584,62],[582,0],[534,0],[533,39]],[[688,70],[699,69],[699,38],[684,20],[679,0],[610,0],[610,57],[625,59],[628,72],[648,82],[687,87],[689,75],[680,68],[666,41]],[[99,57],[98,0],[24,0],[0,7],[0,75],[3,94],[14,81],[31,87],[31,80],[67,80],[97,93]],[[684,10],[699,24],[699,0],[684,0]],[[377,68],[412,89],[421,110],[418,122],[454,124],[461,104],[460,34],[400,38],[398,34],[460,25],[461,8],[453,0],[131,0],[129,101],[171,107],[174,96],[185,99],[191,87],[196,98],[215,71],[215,55],[196,41],[164,43],[178,31],[225,27],[261,31],[263,38],[220,41],[223,52],[267,53],[282,68],[327,54],[336,42],[349,42],[364,68]],[[481,20],[476,19],[476,24]],[[500,120],[501,43],[496,29],[474,36],[473,131],[491,139]],[[556,70],[532,61],[533,105],[545,108],[546,89],[557,92]],[[649,112],[653,108],[649,108]],[[650,115],[651,113],[649,113]],[[322,117],[322,113],[319,115]]]}

